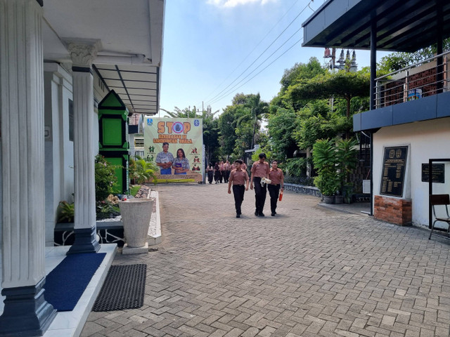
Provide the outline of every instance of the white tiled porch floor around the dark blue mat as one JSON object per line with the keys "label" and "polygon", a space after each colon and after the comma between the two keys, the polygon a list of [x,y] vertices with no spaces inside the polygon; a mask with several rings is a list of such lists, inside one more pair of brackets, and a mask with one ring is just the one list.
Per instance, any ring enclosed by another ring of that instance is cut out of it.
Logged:
{"label": "white tiled porch floor around the dark blue mat", "polygon": [[[53,270],[54,267],[65,258],[65,253],[70,249],[70,246],[46,247],[45,249],[45,272],[46,275]],[[89,282],[86,290],[79,298],[77,305],[72,311],[58,312],[55,319],[49,326],[49,329],[44,333],[44,337],[76,337],[81,333],[84,323],[91,312],[98,292],[103,285],[109,267],[113,263],[115,253],[117,251],[117,244],[101,244],[101,249],[98,253],[106,253],[103,262]],[[1,265],[0,265],[1,268]],[[1,269],[0,269],[1,270]],[[0,289],[1,290],[1,289]],[[4,298],[1,298],[0,315],[3,312]]]}

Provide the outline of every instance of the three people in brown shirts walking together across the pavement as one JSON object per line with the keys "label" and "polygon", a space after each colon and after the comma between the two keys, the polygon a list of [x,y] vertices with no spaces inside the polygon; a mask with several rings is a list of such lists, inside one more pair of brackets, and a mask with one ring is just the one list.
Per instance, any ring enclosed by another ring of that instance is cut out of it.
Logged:
{"label": "three people in brown shirts walking together across the pavement", "polygon": [[[236,218],[240,218],[242,211],[240,206],[244,200],[244,192],[248,191],[250,180],[250,190],[255,188],[255,216],[264,216],[262,213],[264,203],[266,201],[267,190],[270,196],[271,216],[276,215],[276,204],[278,196],[284,190],[284,175],[281,169],[278,169],[278,161],[272,161],[272,167],[266,161],[266,154],[260,153],[259,160],[252,165],[251,178],[248,178],[248,173],[243,169],[243,161],[238,159],[234,162],[235,168],[231,170],[228,183],[228,193],[231,194],[233,189],[234,203],[236,207]],[[265,183],[265,179],[270,182]],[[255,183],[255,185],[254,185]]]}

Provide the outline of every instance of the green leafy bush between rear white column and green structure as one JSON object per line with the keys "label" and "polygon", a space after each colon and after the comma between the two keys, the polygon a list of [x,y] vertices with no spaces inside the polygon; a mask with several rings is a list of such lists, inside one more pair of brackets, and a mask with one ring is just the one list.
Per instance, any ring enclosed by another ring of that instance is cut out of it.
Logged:
{"label": "green leafy bush between rear white column and green structure", "polygon": [[96,176],[96,201],[105,200],[108,195],[113,193],[113,186],[117,183],[115,169],[117,166],[110,164],[100,154],[95,158],[95,176]]}

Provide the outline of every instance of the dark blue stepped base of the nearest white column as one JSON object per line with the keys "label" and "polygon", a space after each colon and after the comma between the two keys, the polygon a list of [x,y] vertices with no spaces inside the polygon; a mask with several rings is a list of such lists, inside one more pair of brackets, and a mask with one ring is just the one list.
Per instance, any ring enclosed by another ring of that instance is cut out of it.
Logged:
{"label": "dark blue stepped base of the nearest white column", "polygon": [[35,286],[18,286],[1,291],[4,312],[0,316],[1,337],[42,336],[56,317],[56,310],[46,302],[45,277]]}

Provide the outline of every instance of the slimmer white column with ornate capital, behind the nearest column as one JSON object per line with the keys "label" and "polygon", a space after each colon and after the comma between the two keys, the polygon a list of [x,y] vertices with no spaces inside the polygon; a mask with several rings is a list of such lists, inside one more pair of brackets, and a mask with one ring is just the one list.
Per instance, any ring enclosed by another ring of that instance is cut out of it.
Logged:
{"label": "slimmer white column with ornate capital, behind the nearest column", "polygon": [[69,253],[96,252],[96,195],[94,166],[94,86],[92,61],[95,43],[72,42],[74,107],[75,243]]}

